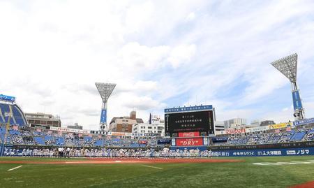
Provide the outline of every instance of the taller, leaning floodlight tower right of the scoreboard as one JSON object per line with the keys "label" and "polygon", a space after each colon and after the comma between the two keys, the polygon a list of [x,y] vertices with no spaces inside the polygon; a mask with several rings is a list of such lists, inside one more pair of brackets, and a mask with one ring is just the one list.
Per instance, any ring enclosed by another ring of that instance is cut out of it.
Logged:
{"label": "taller, leaning floodlight tower right of the scoreboard", "polygon": [[278,69],[285,77],[287,77],[292,85],[292,100],[294,108],[294,119],[302,120],[305,118],[304,108],[301,103],[299,88],[297,86],[297,66],[298,55],[293,54],[287,57],[276,60],[271,63],[272,66]]}

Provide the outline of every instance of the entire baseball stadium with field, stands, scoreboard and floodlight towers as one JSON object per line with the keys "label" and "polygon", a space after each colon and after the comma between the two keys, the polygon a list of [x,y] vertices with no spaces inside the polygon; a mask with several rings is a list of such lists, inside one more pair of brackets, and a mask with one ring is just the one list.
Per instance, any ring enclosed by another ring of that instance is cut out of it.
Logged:
{"label": "entire baseball stadium with field, stands, scoreboard and floodlight towers", "polygon": [[100,131],[68,129],[29,123],[1,95],[0,187],[314,187],[314,118],[304,115],[297,55],[272,65],[292,82],[294,122],[216,131],[219,112],[202,105],[165,108],[163,136],[107,131],[116,85],[97,82]]}

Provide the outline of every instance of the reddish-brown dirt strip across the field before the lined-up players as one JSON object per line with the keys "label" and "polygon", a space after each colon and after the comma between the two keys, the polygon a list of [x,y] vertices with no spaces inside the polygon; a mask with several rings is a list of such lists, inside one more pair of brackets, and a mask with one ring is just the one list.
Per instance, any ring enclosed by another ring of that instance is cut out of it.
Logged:
{"label": "reddish-brown dirt strip across the field before the lined-up players", "polygon": [[162,163],[235,163],[237,159],[102,159],[60,161],[0,161],[0,164],[162,164]]}

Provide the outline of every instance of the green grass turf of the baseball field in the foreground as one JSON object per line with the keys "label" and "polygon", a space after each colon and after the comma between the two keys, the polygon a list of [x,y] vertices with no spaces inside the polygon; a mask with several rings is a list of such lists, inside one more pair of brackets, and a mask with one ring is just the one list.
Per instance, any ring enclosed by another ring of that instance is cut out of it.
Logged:
{"label": "green grass turf of the baseball field in the foreground", "polygon": [[[290,187],[314,181],[314,163],[276,166],[253,164],[258,162],[308,161],[313,160],[314,157],[239,157],[227,159],[244,159],[245,161],[225,164],[147,165],[0,164],[0,187]],[[0,161],[17,160],[59,161],[59,159],[47,158],[0,157]],[[8,171],[20,165],[22,167]]]}

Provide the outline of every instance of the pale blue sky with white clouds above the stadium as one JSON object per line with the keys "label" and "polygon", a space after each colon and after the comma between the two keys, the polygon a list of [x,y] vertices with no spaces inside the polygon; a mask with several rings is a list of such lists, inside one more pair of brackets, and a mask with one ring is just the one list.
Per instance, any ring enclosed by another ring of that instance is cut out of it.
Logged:
{"label": "pale blue sky with white clouds above the stadium", "polygon": [[[212,104],[218,120],[293,120],[270,65],[297,52],[314,117],[313,1],[0,1],[0,93],[25,112],[98,129],[94,82],[115,82],[109,119]],[[4,68],[4,69],[6,69]]]}

